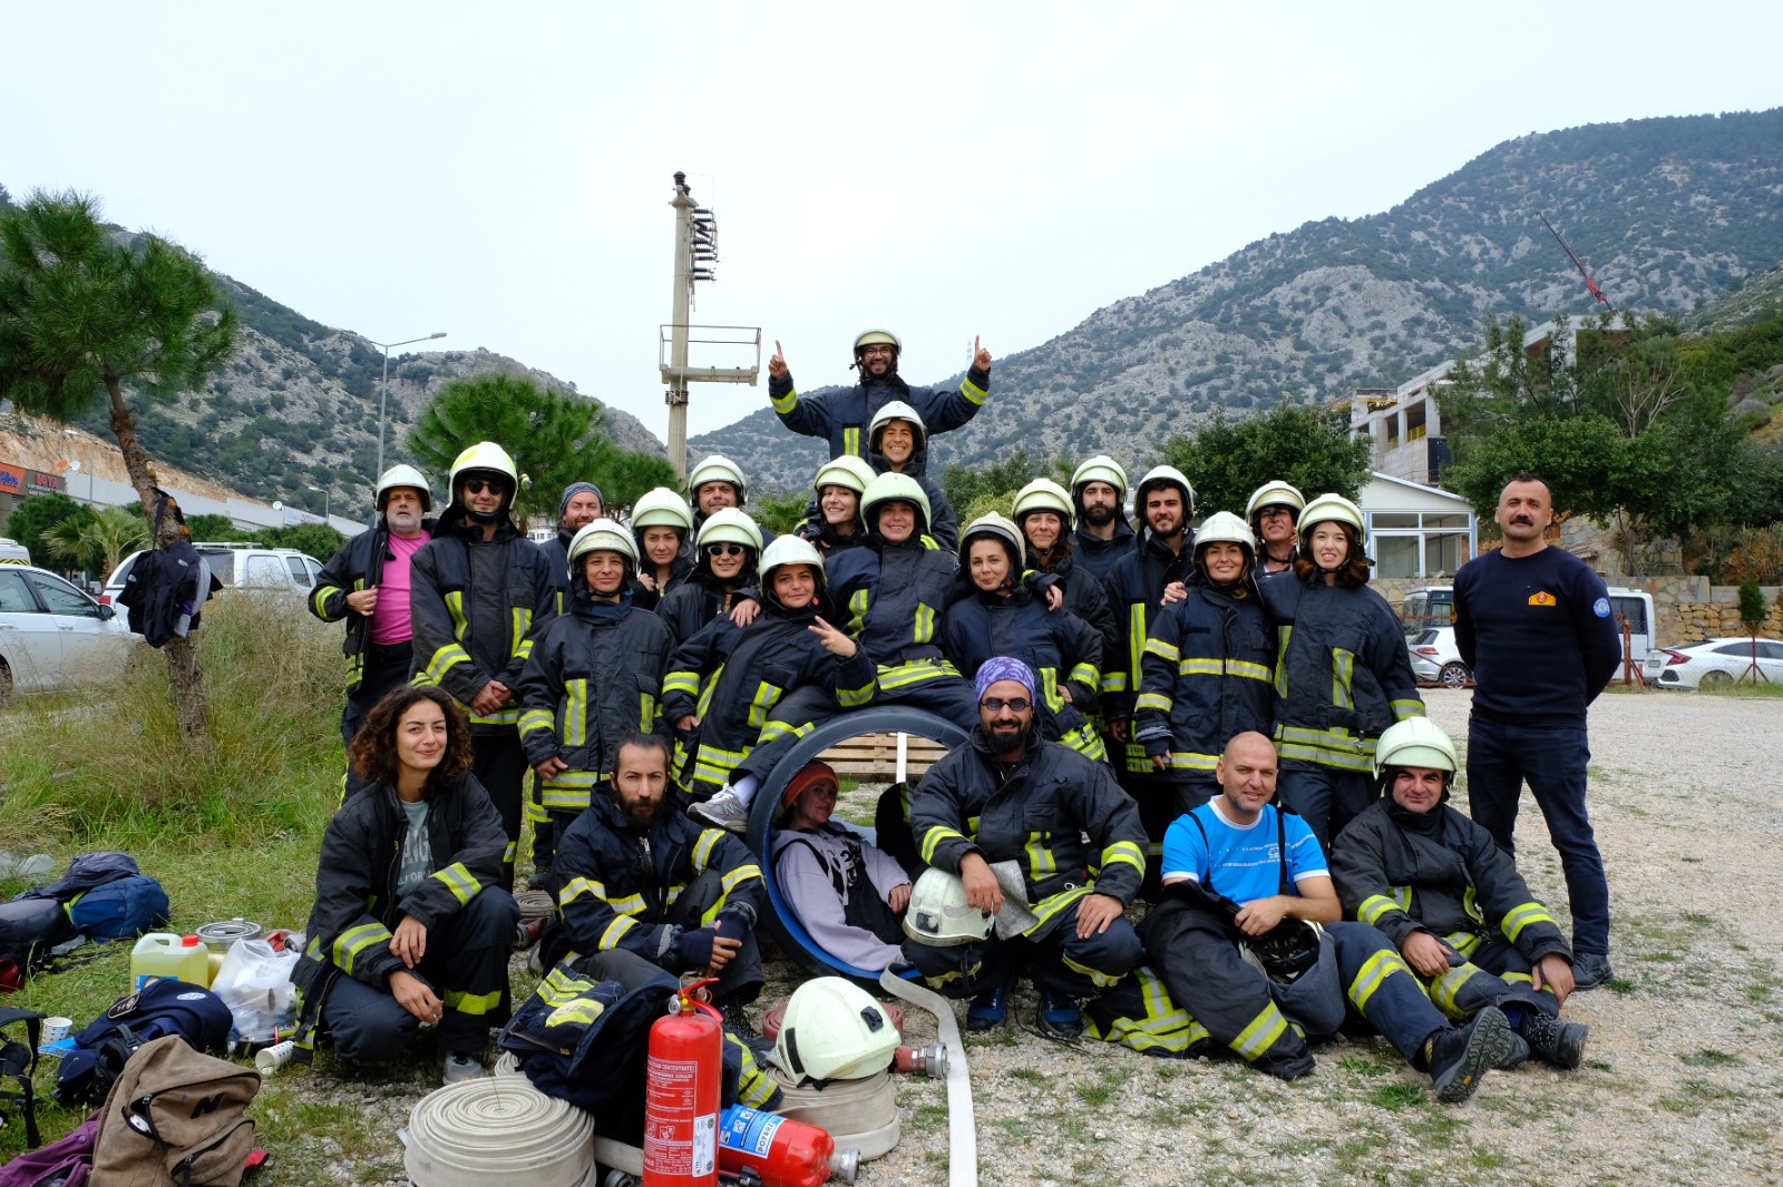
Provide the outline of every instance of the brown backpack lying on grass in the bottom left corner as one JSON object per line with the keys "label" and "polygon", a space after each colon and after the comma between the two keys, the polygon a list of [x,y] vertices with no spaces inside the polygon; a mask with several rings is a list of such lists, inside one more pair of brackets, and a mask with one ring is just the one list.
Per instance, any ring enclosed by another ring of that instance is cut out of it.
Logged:
{"label": "brown backpack lying on grass in the bottom left corner", "polygon": [[130,1055],[100,1109],[93,1182],[107,1187],[239,1187],[253,1151],[242,1110],[260,1076],[194,1052],[177,1034]]}

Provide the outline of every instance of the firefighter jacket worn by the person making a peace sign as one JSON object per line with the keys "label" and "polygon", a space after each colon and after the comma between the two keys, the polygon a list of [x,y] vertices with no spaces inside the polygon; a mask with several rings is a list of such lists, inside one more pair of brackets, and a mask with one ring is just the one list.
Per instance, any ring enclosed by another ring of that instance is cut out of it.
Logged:
{"label": "firefighter jacket worn by the person making a peace sign", "polygon": [[[749,629],[719,618],[669,658],[663,716],[699,718],[688,786],[722,788],[758,741],[799,733],[804,722],[768,720],[774,706],[799,688],[822,688],[842,709],[872,704],[874,661],[865,647],[847,659],[824,651],[809,629],[818,610],[788,608],[768,595]],[[829,615],[824,620],[836,626]]]}

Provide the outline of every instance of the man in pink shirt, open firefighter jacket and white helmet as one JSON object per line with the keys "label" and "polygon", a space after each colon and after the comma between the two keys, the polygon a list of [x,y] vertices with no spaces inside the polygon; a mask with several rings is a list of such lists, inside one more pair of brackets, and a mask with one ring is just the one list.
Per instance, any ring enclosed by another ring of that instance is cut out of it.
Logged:
{"label": "man in pink shirt, open firefighter jacket and white helmet", "polygon": [[323,622],[346,620],[346,708],[341,738],[351,745],[360,722],[394,688],[408,683],[412,627],[408,569],[433,538],[433,494],[412,465],[392,465],[378,478],[378,522],[335,553],[310,590],[310,613]]}

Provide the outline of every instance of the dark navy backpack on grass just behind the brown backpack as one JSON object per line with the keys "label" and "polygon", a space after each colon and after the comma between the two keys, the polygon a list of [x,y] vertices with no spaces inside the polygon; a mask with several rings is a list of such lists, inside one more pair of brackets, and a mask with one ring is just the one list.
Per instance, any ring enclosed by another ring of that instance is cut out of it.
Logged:
{"label": "dark navy backpack on grass just behind the brown backpack", "polygon": [[196,1052],[225,1053],[234,1018],[223,998],[184,980],[153,978],[75,1036],[55,1071],[61,1105],[98,1105],[136,1048],[177,1034]]}

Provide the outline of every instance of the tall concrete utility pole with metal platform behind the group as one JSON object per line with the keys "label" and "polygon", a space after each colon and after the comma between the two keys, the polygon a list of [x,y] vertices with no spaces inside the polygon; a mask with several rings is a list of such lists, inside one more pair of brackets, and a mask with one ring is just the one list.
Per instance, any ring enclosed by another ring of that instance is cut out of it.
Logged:
{"label": "tall concrete utility pole with metal platform behind the group", "polygon": [[[688,317],[694,308],[694,285],[717,280],[719,221],[711,210],[694,201],[686,173],[674,175],[674,305],[672,321],[658,328],[658,371],[669,390],[669,463],[676,476],[686,478],[686,389],[690,383],[749,383],[754,387],[761,371],[760,326],[694,326]],[[701,337],[692,332],[699,330]],[[754,348],[749,367],[690,367],[688,349],[694,342],[717,348]]]}

